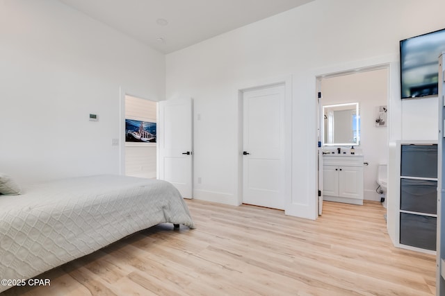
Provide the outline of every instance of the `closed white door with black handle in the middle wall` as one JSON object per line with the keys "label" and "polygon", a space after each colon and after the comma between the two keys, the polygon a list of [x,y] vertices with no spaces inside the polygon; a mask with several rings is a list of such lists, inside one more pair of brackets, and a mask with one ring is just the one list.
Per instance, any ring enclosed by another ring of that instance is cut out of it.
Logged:
{"label": "closed white door with black handle in the middle wall", "polygon": [[243,93],[243,202],[284,209],[284,85]]}

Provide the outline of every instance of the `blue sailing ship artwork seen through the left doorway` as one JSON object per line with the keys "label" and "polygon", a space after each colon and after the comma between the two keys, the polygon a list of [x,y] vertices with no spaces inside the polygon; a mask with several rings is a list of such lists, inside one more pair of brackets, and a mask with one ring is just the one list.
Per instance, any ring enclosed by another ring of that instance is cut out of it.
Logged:
{"label": "blue sailing ship artwork seen through the left doorway", "polygon": [[156,123],[125,119],[125,141],[156,143]]}

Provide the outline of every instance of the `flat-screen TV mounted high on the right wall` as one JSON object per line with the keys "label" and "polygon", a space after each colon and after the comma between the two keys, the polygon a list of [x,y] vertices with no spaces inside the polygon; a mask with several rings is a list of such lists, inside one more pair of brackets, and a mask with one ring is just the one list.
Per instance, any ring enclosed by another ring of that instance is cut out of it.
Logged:
{"label": "flat-screen TV mounted high on the right wall", "polygon": [[445,29],[401,40],[402,98],[437,96],[439,55],[445,51]]}

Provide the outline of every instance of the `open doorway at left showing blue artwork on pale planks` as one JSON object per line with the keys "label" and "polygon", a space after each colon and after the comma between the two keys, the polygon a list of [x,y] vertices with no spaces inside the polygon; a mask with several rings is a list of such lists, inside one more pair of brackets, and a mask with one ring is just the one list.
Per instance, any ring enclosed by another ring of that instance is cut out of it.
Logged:
{"label": "open doorway at left showing blue artwork on pale planks", "polygon": [[125,175],[156,179],[157,103],[125,95]]}

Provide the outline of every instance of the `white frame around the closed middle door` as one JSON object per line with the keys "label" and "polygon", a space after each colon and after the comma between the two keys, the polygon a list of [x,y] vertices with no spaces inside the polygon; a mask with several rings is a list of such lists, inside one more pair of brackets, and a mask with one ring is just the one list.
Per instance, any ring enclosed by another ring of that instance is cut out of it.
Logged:
{"label": "white frame around the closed middle door", "polygon": [[244,92],[284,85],[284,210],[292,197],[292,76],[258,80],[238,87],[238,145],[236,150],[236,197],[243,203],[243,95]]}

